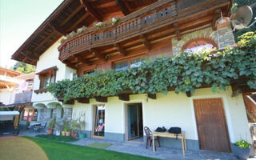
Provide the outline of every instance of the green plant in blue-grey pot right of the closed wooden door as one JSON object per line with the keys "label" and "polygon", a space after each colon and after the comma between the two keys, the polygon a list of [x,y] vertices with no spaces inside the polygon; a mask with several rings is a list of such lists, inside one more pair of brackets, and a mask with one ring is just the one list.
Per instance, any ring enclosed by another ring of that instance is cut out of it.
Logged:
{"label": "green plant in blue-grey pot right of the closed wooden door", "polygon": [[247,159],[250,155],[250,143],[246,140],[241,140],[234,143],[234,154],[240,159]]}

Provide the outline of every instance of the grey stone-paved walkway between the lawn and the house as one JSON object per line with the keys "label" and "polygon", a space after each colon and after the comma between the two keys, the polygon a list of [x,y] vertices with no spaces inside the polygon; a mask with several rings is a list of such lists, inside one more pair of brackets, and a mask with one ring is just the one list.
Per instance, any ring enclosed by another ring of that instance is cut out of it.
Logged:
{"label": "grey stone-paved walkway between the lawn and the house", "polygon": [[[41,133],[43,134],[43,133]],[[46,134],[46,133],[45,133]],[[19,136],[34,137],[36,133],[30,130],[22,130]],[[77,142],[70,142],[70,144],[88,146],[94,142],[111,143],[112,145],[107,147],[106,150],[114,150],[126,154],[142,155],[150,158],[170,159],[170,160],[235,160],[232,154],[211,152],[206,150],[187,150],[186,156],[182,156],[182,150],[157,147],[157,151],[153,152],[152,146],[146,149],[146,145],[138,142],[115,142],[98,138],[83,138]]]}

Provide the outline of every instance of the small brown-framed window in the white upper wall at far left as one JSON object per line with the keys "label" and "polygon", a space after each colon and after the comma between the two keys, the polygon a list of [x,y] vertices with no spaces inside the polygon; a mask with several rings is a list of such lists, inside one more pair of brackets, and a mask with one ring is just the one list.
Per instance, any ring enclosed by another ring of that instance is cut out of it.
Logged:
{"label": "small brown-framed window in the white upper wall at far left", "polygon": [[58,70],[57,66],[50,67],[46,70],[42,70],[41,72],[38,72],[40,79],[40,89],[46,88],[46,86],[52,82],[54,83],[56,80],[56,71]]}

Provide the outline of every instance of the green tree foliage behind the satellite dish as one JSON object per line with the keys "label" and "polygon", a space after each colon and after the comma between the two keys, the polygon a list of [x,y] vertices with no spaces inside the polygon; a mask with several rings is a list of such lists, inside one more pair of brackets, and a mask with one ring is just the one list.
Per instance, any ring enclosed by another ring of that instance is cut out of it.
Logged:
{"label": "green tree foliage behind the satellite dish", "polygon": [[[234,0],[234,3],[233,3],[233,6],[232,6],[232,13],[234,13],[235,10],[237,10],[237,8],[239,6],[250,6],[252,4],[254,4],[256,2],[256,0]],[[254,17],[256,16],[256,6],[254,6],[253,9],[253,20],[251,22],[254,22]],[[254,26],[251,26],[250,28],[245,28],[245,29],[242,29],[242,30],[235,30],[234,32],[234,40],[235,42],[238,42],[239,41],[239,36],[246,33],[246,32],[249,32],[249,31],[255,31],[256,30],[256,24],[254,24]]]}

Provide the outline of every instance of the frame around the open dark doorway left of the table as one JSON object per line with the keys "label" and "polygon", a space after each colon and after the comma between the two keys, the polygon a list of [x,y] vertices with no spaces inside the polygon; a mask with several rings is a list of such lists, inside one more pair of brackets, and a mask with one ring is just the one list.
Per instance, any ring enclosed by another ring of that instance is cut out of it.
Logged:
{"label": "frame around the open dark doorway left of the table", "polygon": [[[128,139],[128,117],[127,117],[127,114],[128,114],[128,105],[130,105],[130,104],[142,104],[142,128],[143,128],[143,126],[144,126],[144,121],[143,121],[143,102],[126,102],[125,103],[125,105],[124,105],[124,107],[125,107],[125,110],[124,110],[124,112],[125,112],[125,141],[126,142],[134,142],[134,141],[130,141],[130,140],[132,140],[132,139]],[[137,109],[138,110],[138,109]],[[138,117],[138,115],[137,115],[137,117]],[[138,134],[139,134],[139,127],[138,127]],[[142,134],[142,137],[144,137],[144,133]],[[143,142],[144,142],[144,139],[143,139]],[[138,142],[138,143],[143,143],[143,142]]]}

